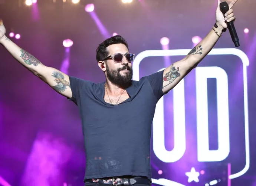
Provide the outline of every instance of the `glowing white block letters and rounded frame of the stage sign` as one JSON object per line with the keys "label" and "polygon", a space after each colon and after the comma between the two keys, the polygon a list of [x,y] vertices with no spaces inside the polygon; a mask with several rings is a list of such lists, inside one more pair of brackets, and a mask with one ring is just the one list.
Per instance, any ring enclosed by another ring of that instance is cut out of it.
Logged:
{"label": "glowing white block letters and rounded frame of the stage sign", "polygon": [[[133,80],[140,79],[140,62],[145,57],[185,56],[190,49],[184,50],[151,50],[137,55],[133,62]],[[247,100],[247,66],[249,59],[243,51],[236,48],[213,49],[208,55],[236,55],[243,62],[243,97],[244,97],[244,129],[246,165],[242,170],[229,176],[230,179],[242,176],[250,166],[249,157],[249,124]],[[163,70],[163,69],[161,69]],[[208,103],[207,78],[215,78],[217,82],[217,150],[209,150],[208,133]],[[198,162],[219,162],[227,158],[230,152],[229,141],[229,102],[228,77],[226,71],[220,67],[196,67],[196,109],[197,109],[197,160]],[[163,162],[176,162],[183,157],[186,151],[186,124],[185,124],[185,94],[184,80],[173,89],[173,116],[174,116],[174,148],[167,151],[164,145],[164,97],[156,106],[153,120],[153,150],[158,159]],[[200,98],[200,99],[199,99]],[[178,102],[177,102],[178,100]],[[156,181],[156,180],[155,180]]]}

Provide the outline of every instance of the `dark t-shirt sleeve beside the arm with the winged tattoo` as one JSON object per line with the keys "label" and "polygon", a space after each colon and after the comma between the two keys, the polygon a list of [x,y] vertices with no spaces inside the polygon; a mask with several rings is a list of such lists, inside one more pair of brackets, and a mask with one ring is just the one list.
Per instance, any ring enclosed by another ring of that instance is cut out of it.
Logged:
{"label": "dark t-shirt sleeve beside the arm with the winged tattoo", "polygon": [[69,76],[70,88],[72,91],[72,98],[69,100],[73,101],[77,105],[77,101],[80,98],[80,90],[86,85],[86,81],[80,78]]}

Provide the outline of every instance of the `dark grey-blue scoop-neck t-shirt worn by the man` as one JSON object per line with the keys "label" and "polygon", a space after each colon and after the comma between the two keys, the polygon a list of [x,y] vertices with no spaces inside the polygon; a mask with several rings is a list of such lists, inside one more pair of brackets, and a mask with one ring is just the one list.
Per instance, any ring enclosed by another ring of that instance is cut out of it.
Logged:
{"label": "dark grey-blue scoop-neck t-shirt worn by the man", "polygon": [[157,101],[163,96],[163,71],[132,81],[129,97],[118,105],[104,101],[104,83],[70,78],[82,119],[84,179],[145,176],[151,180],[150,138]]}

